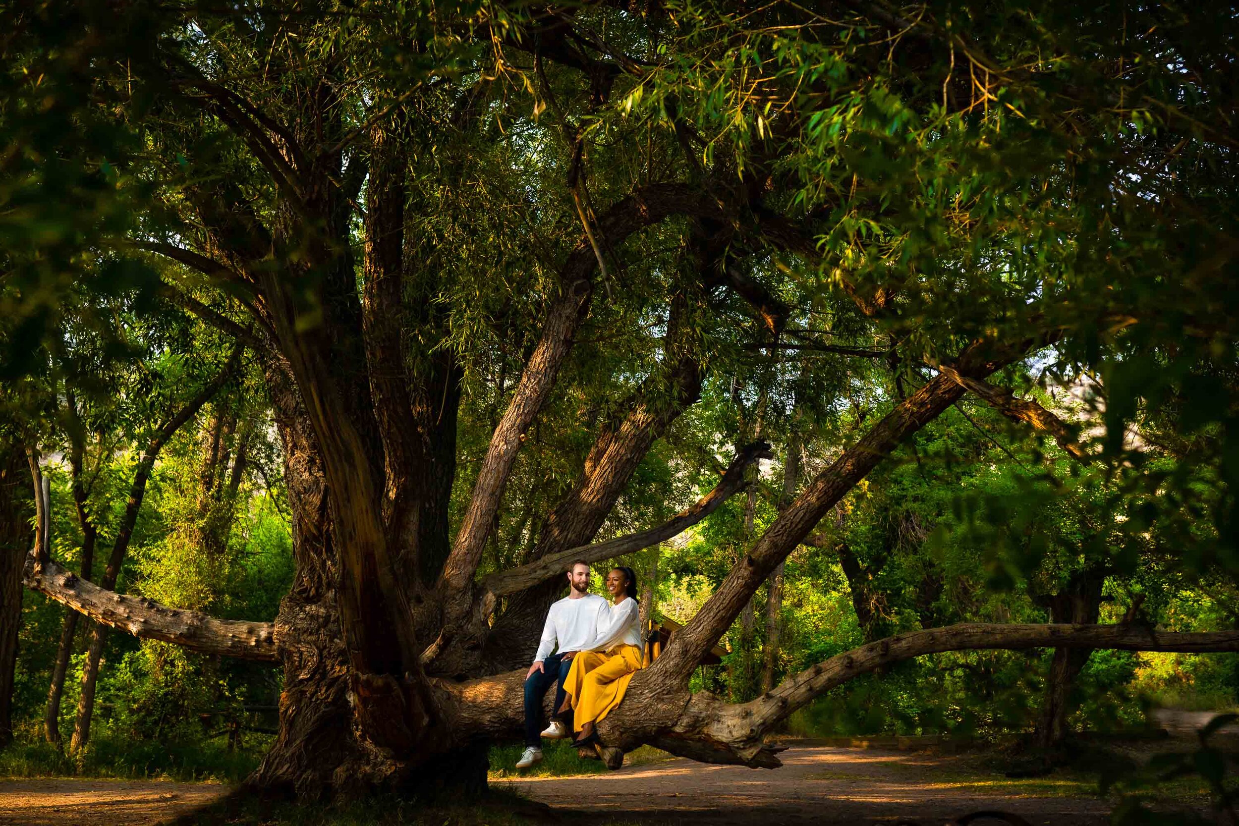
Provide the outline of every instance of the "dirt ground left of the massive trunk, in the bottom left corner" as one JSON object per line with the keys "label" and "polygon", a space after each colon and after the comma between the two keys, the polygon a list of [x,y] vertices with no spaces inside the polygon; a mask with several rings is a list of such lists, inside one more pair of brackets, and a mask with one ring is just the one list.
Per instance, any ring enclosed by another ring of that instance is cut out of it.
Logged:
{"label": "dirt ground left of the massive trunk, in the bottom left corner", "polygon": [[147,826],[213,802],[228,789],[159,780],[0,780],[0,824]]}

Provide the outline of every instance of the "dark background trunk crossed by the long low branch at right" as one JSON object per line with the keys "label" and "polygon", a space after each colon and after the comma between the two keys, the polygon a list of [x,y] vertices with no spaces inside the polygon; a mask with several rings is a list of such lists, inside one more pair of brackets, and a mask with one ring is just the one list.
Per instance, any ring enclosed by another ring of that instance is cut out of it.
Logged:
{"label": "dark background trunk crossed by the long low branch at right", "polygon": [[[1049,622],[1094,624],[1101,611],[1101,586],[1105,583],[1105,571],[1089,567],[1072,576],[1067,587],[1049,597]],[[1075,677],[1084,669],[1094,649],[1058,648],[1049,665],[1049,677],[1046,693],[1041,701],[1037,716],[1037,728],[1032,741],[1038,748],[1061,746],[1069,733],[1067,718],[1074,703],[1072,689]]]}

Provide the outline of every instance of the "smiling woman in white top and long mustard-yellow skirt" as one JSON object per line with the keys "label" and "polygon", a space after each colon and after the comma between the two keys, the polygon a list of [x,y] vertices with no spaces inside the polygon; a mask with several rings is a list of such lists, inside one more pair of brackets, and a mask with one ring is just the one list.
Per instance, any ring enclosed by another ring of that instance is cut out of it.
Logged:
{"label": "smiling woman in white top and long mustard-yellow skirt", "polygon": [[637,609],[637,575],[632,568],[607,573],[610,615],[598,617],[593,643],[572,658],[560,711],[575,710],[576,747],[598,743],[593,724],[620,705],[632,675],[641,667],[641,612]]}

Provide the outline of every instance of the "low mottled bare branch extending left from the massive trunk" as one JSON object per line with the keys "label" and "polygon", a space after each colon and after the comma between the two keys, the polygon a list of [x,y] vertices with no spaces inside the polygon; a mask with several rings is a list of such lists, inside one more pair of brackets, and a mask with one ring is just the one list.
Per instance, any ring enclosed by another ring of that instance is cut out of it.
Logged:
{"label": "low mottled bare branch extending left from the massive trunk", "polygon": [[275,625],[217,619],[196,611],[167,608],[150,599],[100,588],[52,561],[36,570],[26,557],[24,582],[31,591],[68,606],[97,623],[141,639],[159,639],[202,653],[242,660],[276,661]]}

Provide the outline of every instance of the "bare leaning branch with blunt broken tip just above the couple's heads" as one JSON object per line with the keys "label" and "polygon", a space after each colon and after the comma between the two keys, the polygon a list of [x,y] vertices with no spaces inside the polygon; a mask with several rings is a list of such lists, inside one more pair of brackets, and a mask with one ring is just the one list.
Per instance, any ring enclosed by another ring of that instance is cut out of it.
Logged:
{"label": "bare leaning branch with blunt broken tip just above the couple's heads", "polygon": [[665,542],[670,537],[676,536],[698,524],[712,514],[724,502],[746,489],[747,484],[745,483],[745,468],[757,459],[768,459],[773,457],[774,454],[771,453],[769,445],[767,442],[753,442],[752,445],[747,445],[741,448],[741,451],[736,454],[736,458],[731,461],[731,464],[724,472],[719,484],[715,485],[710,493],[704,495],[693,505],[675,514],[662,525],[638,531],[636,534],[617,536],[616,539],[607,540],[606,542],[596,542],[593,545],[584,545],[581,547],[570,547],[566,551],[544,556],[543,559],[530,562],[529,565],[523,565],[518,568],[512,568],[510,571],[492,573],[482,581],[482,585],[496,597],[506,597],[508,594],[532,588],[535,585],[540,585],[563,573],[566,566],[574,560],[601,562],[602,560],[615,559],[616,556],[623,556],[624,554],[633,554],[652,545],[657,545],[658,542]]}

